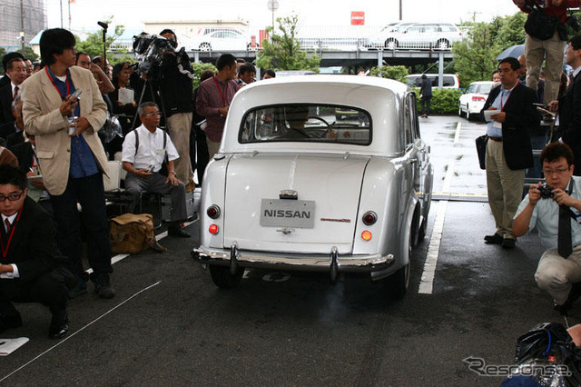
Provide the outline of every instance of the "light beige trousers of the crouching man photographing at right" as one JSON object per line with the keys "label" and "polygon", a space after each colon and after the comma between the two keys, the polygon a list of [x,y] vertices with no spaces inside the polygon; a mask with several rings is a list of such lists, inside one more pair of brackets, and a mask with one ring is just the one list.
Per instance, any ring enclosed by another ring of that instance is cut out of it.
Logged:
{"label": "light beige trousers of the crouching man photographing at right", "polygon": [[547,291],[557,305],[565,303],[571,291],[571,283],[581,281],[581,245],[577,245],[566,259],[556,250],[543,253],[535,280],[538,287]]}

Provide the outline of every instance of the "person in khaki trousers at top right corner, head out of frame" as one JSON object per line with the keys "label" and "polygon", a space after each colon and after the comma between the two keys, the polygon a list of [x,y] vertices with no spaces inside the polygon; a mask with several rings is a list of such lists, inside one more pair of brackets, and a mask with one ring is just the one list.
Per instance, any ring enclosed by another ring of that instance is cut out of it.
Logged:
{"label": "person in khaki trousers at top right corner, head out of frame", "polygon": [[581,6],[581,0],[513,0],[522,12],[528,14],[525,31],[527,58],[527,86],[537,90],[543,61],[545,68],[545,94],[542,102],[556,100],[563,68],[563,51],[567,40],[566,24],[578,31],[574,16],[567,16],[567,8]]}

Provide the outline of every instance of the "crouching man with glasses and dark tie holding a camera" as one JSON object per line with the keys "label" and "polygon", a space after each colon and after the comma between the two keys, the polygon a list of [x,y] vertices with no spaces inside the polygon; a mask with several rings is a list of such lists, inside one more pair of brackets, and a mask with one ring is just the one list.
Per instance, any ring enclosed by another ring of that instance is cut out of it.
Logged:
{"label": "crouching man with glasses and dark tie holding a camera", "polygon": [[573,152],[562,143],[548,144],[540,155],[546,184],[533,184],[520,203],[513,232],[522,236],[537,227],[541,256],[535,280],[566,314],[581,295],[581,177],[573,176]]}

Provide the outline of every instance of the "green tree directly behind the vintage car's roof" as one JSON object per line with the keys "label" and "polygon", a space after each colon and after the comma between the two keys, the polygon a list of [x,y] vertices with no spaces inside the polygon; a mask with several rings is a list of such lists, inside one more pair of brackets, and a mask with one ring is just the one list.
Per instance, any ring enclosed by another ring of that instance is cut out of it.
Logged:
{"label": "green tree directly behind the vintage car's roof", "polygon": [[300,49],[297,39],[297,23],[299,17],[291,15],[278,18],[278,28],[274,32],[272,27],[267,27],[267,35],[271,40],[262,41],[264,50],[258,53],[256,65],[261,68],[273,68],[276,70],[311,70],[319,72],[320,56],[314,53],[307,54]]}

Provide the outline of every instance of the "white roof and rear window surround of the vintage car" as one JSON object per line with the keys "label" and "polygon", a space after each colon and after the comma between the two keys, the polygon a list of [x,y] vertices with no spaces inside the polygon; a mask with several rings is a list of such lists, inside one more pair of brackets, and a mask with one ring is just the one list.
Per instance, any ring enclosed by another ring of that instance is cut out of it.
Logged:
{"label": "white roof and rear window surround of the vintage car", "polygon": [[[359,154],[399,154],[399,122],[404,96],[411,92],[407,84],[392,79],[358,75],[310,75],[271,78],[241,88],[231,103],[222,138],[223,152],[297,152],[294,143],[240,144],[240,124],[252,109],[277,104],[330,104],[355,107],[369,112],[376,122],[372,143],[301,144],[301,152],[350,152]],[[386,128],[389,128],[386,129]],[[235,133],[234,133],[235,132]]]}

